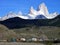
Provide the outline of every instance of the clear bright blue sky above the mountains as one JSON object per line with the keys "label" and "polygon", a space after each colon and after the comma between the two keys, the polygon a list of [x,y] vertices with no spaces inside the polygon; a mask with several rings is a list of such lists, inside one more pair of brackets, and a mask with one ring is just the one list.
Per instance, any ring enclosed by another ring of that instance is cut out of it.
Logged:
{"label": "clear bright blue sky above the mountains", "polygon": [[10,11],[18,13],[29,13],[31,6],[37,9],[44,2],[50,13],[60,13],[60,0],[0,0],[0,16],[4,16]]}

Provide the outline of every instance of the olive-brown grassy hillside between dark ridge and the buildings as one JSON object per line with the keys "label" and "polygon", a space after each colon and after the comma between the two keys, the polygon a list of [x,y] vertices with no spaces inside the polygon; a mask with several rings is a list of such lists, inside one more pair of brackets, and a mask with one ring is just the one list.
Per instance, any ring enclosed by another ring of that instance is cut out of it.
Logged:
{"label": "olive-brown grassy hillside between dark ridge and the buildings", "polygon": [[60,27],[52,26],[29,26],[19,29],[8,29],[0,24],[0,39],[20,38],[20,37],[37,37],[55,39],[60,38]]}

